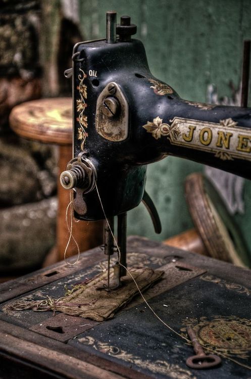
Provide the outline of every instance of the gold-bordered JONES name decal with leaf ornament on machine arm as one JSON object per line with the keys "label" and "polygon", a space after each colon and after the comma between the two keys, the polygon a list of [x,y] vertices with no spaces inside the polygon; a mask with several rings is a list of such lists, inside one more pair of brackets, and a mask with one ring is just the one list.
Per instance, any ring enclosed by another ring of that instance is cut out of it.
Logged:
{"label": "gold-bordered JONES name decal with leaf ornament on machine arm", "polygon": [[249,130],[231,118],[214,123],[175,117],[169,122],[158,116],[142,127],[155,139],[166,136],[172,145],[212,153],[221,160],[251,160],[251,131],[247,134]]}

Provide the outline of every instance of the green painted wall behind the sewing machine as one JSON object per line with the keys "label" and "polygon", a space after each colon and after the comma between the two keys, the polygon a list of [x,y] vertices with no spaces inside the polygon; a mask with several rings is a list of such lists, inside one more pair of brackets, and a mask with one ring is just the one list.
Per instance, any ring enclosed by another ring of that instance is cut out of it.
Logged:
{"label": "green painted wall behind the sewing machine", "polygon": [[[146,49],[149,67],[182,98],[206,101],[207,86],[217,85],[219,98],[231,96],[229,81],[240,83],[242,41],[251,38],[250,0],[79,0],[86,39],[105,36],[106,11],[129,15]],[[150,105],[149,105],[150,106]],[[183,182],[203,166],[168,157],[148,166],[146,189],[163,224],[157,236],[143,206],[129,213],[128,232],[164,239],[192,226]],[[251,246],[251,185],[245,183],[245,215],[236,219]]]}

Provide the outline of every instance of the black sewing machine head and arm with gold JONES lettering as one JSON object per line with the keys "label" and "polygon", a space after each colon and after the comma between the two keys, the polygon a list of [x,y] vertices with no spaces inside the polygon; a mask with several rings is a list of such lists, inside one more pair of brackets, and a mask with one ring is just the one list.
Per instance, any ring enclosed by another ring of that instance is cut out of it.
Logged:
{"label": "black sewing machine head and arm with gold JONES lettering", "polygon": [[74,188],[79,219],[124,214],[143,198],[160,231],[146,164],[174,155],[250,176],[251,109],[182,100],[150,73],[135,33],[129,17],[116,26],[108,12],[107,38],[74,46],[74,158],[61,183]]}

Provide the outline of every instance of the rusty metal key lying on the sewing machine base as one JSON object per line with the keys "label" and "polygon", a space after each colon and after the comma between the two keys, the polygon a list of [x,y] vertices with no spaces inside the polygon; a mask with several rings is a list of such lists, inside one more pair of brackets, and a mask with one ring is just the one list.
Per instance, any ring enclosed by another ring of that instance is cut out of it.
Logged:
{"label": "rusty metal key lying on the sewing machine base", "polygon": [[186,365],[190,368],[205,369],[216,367],[221,363],[221,358],[215,354],[205,354],[202,346],[199,344],[193,329],[187,328],[188,336],[192,342],[193,350],[196,355],[187,358]]}

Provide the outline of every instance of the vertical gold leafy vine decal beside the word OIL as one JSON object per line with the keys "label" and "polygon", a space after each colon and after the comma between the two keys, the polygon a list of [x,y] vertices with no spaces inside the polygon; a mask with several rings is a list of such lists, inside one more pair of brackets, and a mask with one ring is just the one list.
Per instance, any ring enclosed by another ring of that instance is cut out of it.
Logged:
{"label": "vertical gold leafy vine decal beside the word OIL", "polygon": [[78,75],[78,79],[80,80],[80,82],[77,86],[77,89],[79,91],[80,99],[76,101],[76,108],[77,112],[79,112],[79,115],[77,117],[77,122],[79,123],[78,139],[81,140],[81,150],[84,150],[85,139],[88,136],[88,133],[86,133],[85,129],[87,128],[88,123],[87,116],[84,114],[85,108],[87,107],[87,104],[85,102],[85,99],[87,99],[87,87],[83,82],[87,75],[84,73],[83,70],[81,70],[81,68],[79,70],[81,71],[81,73]]}

